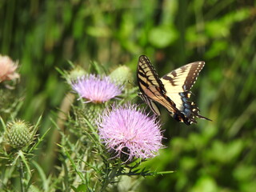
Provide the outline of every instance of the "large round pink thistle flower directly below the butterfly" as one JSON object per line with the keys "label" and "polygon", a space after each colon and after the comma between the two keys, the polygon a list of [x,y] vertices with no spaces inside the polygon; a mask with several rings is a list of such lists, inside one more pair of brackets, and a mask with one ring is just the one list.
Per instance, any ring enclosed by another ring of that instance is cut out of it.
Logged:
{"label": "large round pink thistle flower directly below the butterfly", "polygon": [[[98,123],[99,137],[106,149],[126,156],[126,162],[134,158],[153,158],[162,148],[162,131],[155,116],[149,116],[137,105],[113,106],[105,110]],[[125,154],[125,155],[124,155]]]}

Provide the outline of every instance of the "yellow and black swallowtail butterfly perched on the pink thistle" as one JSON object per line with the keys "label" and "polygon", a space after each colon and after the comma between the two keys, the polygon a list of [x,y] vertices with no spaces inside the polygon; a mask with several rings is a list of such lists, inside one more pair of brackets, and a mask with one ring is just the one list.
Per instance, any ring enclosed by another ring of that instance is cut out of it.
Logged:
{"label": "yellow and black swallowtail butterfly perched on the pink thistle", "polygon": [[190,88],[198,78],[205,62],[191,62],[171,71],[162,78],[158,77],[150,59],[145,55],[138,58],[137,81],[140,92],[138,95],[156,115],[160,115],[157,102],[169,111],[178,122],[186,125],[196,123],[195,118],[211,121],[199,114],[198,107],[190,98]]}

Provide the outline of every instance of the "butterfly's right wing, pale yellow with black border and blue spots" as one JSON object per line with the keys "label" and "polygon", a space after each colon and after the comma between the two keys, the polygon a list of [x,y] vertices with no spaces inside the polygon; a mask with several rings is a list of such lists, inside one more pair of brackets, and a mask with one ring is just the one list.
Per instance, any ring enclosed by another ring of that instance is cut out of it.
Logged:
{"label": "butterfly's right wing, pale yellow with black border and blue spots", "polygon": [[196,123],[195,117],[210,120],[199,114],[199,109],[194,102],[188,101],[190,89],[204,65],[205,62],[192,62],[171,71],[160,79],[165,87],[166,96],[175,103],[182,114],[186,115],[190,123]]}

